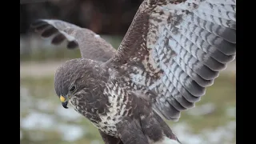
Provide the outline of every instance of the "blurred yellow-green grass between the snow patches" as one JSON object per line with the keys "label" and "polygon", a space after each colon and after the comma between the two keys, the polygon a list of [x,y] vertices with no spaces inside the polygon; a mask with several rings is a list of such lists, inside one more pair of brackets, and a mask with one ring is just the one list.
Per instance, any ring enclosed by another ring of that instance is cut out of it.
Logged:
{"label": "blurred yellow-green grass between the snow patches", "polygon": [[[57,96],[54,93],[54,75],[44,77],[44,78],[21,78],[21,86],[24,86],[29,90],[31,96],[33,96],[33,102],[38,101],[38,99],[53,102],[54,105],[60,105]],[[232,75],[220,75],[220,77],[214,82],[214,86],[210,86],[206,95],[202,97],[201,101],[196,103],[196,106],[200,106],[206,103],[213,103],[215,110],[206,115],[193,116],[187,112],[182,112],[182,117],[179,122],[186,122],[194,134],[202,133],[202,130],[210,129],[214,130],[218,126],[223,126],[227,122],[235,120],[235,118],[230,118],[226,115],[226,109],[229,107],[235,107],[235,78]],[[30,110],[38,110],[37,106],[30,107]],[[29,114],[29,110],[23,110],[21,118],[25,118]],[[49,113],[45,112],[45,113]],[[54,110],[50,112],[54,115]],[[82,117],[81,117],[82,118]],[[63,118],[58,118],[60,122],[66,122]],[[74,144],[86,144],[94,140],[102,142],[98,130],[86,119],[82,118],[82,121],[78,122],[68,122],[73,124],[78,124],[87,130],[87,133]],[[168,122],[170,127],[175,126],[178,122]],[[40,130],[26,130],[22,129],[23,138],[21,143],[49,143],[49,144],[66,144],[70,142],[62,141],[62,137],[56,131],[40,131]],[[234,131],[235,133],[235,131]],[[31,138],[31,134],[43,135],[42,141],[34,141]]]}

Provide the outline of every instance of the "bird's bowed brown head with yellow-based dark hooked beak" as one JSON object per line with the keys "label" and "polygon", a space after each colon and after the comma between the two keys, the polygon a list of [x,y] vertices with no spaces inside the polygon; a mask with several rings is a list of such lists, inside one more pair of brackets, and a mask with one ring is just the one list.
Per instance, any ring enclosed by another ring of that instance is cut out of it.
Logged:
{"label": "bird's bowed brown head with yellow-based dark hooked beak", "polygon": [[64,108],[68,108],[70,98],[81,96],[78,92],[86,86],[86,80],[91,73],[89,68],[91,64],[93,63],[86,59],[72,59],[56,70],[54,89]]}

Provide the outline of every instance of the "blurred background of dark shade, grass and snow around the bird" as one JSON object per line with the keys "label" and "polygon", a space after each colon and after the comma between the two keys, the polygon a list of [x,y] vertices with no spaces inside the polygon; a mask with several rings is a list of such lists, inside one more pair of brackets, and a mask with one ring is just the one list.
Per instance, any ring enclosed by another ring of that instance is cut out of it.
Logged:
{"label": "blurred background of dark shade, grass and snow around the bird", "polygon": [[[98,130],[73,109],[62,108],[54,92],[54,72],[79,50],[51,46],[30,30],[38,18],[55,18],[100,34],[115,48],[142,0],[20,0],[22,144],[102,144]],[[235,62],[210,86],[196,107],[168,122],[183,144],[234,144],[236,131]]]}

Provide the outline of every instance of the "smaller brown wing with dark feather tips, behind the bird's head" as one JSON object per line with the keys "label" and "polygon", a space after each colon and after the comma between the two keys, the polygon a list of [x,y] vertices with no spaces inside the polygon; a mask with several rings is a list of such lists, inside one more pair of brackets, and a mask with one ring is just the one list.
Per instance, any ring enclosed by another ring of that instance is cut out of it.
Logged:
{"label": "smaller brown wing with dark feather tips, behind the bird's head", "polygon": [[98,34],[68,22],[39,19],[33,22],[31,27],[42,38],[51,38],[51,43],[54,45],[66,42],[68,49],[79,47],[82,58],[106,62],[114,56],[116,51],[110,43],[100,38]]}

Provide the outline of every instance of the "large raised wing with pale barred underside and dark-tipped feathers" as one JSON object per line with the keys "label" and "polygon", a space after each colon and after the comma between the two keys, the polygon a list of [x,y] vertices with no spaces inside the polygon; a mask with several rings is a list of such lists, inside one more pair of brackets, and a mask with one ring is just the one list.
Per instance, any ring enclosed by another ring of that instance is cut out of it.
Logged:
{"label": "large raised wing with pale barred underside and dark-tipped feathers", "polygon": [[154,93],[158,114],[178,120],[235,53],[235,0],[145,0],[106,64],[127,70]]}

